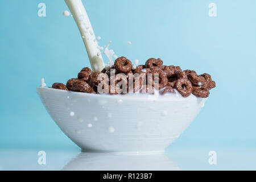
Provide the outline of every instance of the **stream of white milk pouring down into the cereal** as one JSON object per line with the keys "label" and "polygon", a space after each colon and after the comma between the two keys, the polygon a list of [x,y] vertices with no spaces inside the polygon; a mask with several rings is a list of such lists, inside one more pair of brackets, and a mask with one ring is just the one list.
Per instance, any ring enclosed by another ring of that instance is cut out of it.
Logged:
{"label": "stream of white milk pouring down into the cereal", "polygon": [[65,0],[71,11],[73,18],[79,28],[82,39],[88,53],[90,65],[94,72],[102,71],[104,69],[104,61],[102,59],[96,36],[93,32],[92,24],[90,24],[89,17],[85,11],[81,0]]}

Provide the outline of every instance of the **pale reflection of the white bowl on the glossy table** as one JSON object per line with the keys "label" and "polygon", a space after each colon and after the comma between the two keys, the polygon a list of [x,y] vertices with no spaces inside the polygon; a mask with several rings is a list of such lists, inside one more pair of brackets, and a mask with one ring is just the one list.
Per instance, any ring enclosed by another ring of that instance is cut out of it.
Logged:
{"label": "pale reflection of the white bowl on the glossy table", "polygon": [[145,154],[85,153],[81,152],[71,160],[64,171],[179,171],[164,152],[146,152]]}

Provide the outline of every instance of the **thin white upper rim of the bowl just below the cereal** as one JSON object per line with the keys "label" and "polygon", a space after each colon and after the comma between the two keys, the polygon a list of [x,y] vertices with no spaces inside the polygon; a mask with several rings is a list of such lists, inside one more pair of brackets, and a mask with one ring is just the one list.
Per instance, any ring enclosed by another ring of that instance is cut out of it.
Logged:
{"label": "thin white upper rim of the bowl just below the cereal", "polygon": [[[83,92],[73,92],[69,90],[60,90],[60,89],[53,89],[53,88],[48,88],[48,87],[38,87],[36,88],[37,92],[45,91],[48,90],[50,92],[59,92],[59,93],[67,93],[67,94],[72,94],[75,96],[82,96],[82,97],[91,97],[91,98],[105,98],[105,99],[114,99],[114,100],[148,100],[148,101],[156,101],[156,100],[166,100],[166,101],[191,101],[191,100],[208,100],[208,98],[199,98],[196,96],[191,96],[189,97],[173,97],[173,96],[160,96],[159,97],[154,97],[150,94],[133,94],[133,96],[139,96],[139,97],[133,97],[132,94],[117,94],[117,95],[110,95],[110,94],[92,94],[92,93],[83,93]],[[151,96],[151,97],[150,97]]]}

